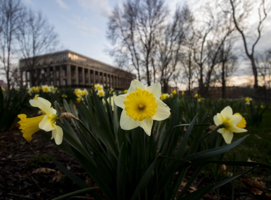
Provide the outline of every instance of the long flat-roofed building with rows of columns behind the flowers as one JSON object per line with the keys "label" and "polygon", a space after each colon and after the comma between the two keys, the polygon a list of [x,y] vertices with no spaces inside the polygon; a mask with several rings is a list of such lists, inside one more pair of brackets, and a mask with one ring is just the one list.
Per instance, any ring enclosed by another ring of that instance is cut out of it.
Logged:
{"label": "long flat-roofed building with rows of columns behind the flowers", "polygon": [[[29,63],[33,62],[34,66],[30,67]],[[107,87],[127,89],[131,80],[136,79],[132,73],[69,50],[21,59],[19,67],[21,85],[26,87],[92,87],[100,83]]]}

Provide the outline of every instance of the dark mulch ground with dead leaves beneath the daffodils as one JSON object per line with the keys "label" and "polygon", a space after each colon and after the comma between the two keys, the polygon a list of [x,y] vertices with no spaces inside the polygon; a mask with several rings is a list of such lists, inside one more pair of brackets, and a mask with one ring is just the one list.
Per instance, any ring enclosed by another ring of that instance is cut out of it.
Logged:
{"label": "dark mulch ground with dead leaves beneath the daffodils", "polygon": [[[22,133],[14,128],[14,130],[0,134],[0,200],[52,199],[80,189],[61,173],[48,157],[49,154],[76,176],[91,183],[87,173],[76,160],[47,142],[38,133],[33,135],[32,141],[27,142],[22,137]],[[241,168],[238,170],[236,174],[242,171]],[[259,193],[259,190],[266,190],[270,194],[270,180],[268,183],[264,181],[266,180],[265,171],[266,169],[259,169],[256,174],[248,174],[246,177],[236,180],[234,199],[259,199],[260,195],[254,194]],[[189,172],[192,174],[193,170],[188,170],[186,180],[189,178]],[[257,176],[257,178],[249,179],[253,176]],[[213,183],[213,180],[206,178],[202,173],[193,187],[190,187],[190,192],[210,183]],[[220,188],[221,200],[231,199],[231,186],[232,183],[229,183]],[[86,198],[84,193],[69,199],[80,198],[91,199]],[[204,199],[218,198],[216,192],[211,192]],[[271,198],[266,197],[265,199]]]}

